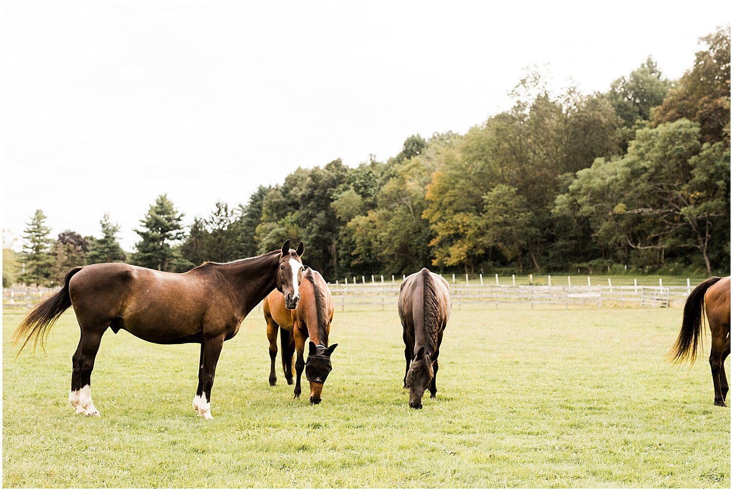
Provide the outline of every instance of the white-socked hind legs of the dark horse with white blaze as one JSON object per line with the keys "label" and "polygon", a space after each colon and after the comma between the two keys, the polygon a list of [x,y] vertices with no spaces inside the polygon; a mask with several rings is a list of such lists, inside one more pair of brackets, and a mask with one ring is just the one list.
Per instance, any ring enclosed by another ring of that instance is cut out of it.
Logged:
{"label": "white-socked hind legs of the dark horse with white blaze", "polygon": [[76,413],[86,416],[100,416],[99,411],[92,403],[92,370],[97,357],[101,332],[81,332],[81,339],[72,358],[73,372],[71,374],[71,391],[69,403],[74,407]]}

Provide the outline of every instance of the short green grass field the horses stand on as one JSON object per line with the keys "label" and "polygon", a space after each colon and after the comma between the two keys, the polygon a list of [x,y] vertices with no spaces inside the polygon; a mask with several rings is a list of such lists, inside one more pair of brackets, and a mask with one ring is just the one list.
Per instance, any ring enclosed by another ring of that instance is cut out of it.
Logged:
{"label": "short green grass field the horses stand on", "polygon": [[86,418],[67,403],[73,313],[48,355],[18,358],[21,316],[5,314],[3,485],[729,488],[730,412],[712,405],[707,355],[663,360],[681,315],[454,311],[438,398],[411,410],[396,312],[336,314],[334,371],[311,406],[281,375],[268,385],[254,311],[224,344],[205,421],[191,409],[197,345],[108,331],[92,375],[102,417]]}

